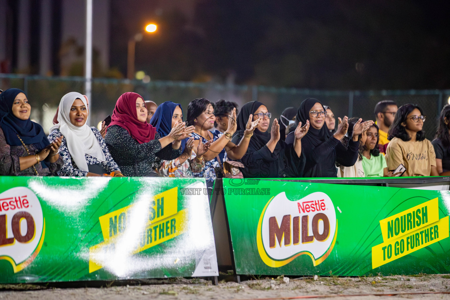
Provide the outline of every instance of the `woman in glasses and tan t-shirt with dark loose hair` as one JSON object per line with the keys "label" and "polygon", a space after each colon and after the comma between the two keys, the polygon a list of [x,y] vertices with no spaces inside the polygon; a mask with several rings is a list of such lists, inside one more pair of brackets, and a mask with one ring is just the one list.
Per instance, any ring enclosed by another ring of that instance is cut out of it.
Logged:
{"label": "woman in glasses and tan t-shirt with dark loose hair", "polygon": [[403,164],[406,171],[402,176],[439,176],[433,145],[422,130],[424,121],[418,106],[405,104],[398,109],[387,137],[388,170],[396,170]]}

